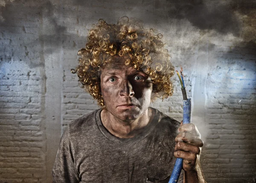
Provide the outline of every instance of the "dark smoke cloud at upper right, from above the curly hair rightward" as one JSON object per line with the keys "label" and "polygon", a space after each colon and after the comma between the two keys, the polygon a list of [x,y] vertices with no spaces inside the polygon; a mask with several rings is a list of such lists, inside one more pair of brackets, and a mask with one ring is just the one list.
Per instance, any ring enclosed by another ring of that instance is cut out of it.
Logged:
{"label": "dark smoke cloud at upper right, from above the curly hair rightward", "polygon": [[208,44],[214,49],[222,40],[230,41],[232,46],[244,42],[250,42],[246,47],[255,46],[256,2],[253,0],[131,0],[125,4],[75,0],[73,5],[108,7],[99,13],[99,18],[109,23],[116,23],[124,15],[143,20],[145,28],[163,34],[163,41],[175,59],[184,59],[186,53],[195,52],[200,45]]}

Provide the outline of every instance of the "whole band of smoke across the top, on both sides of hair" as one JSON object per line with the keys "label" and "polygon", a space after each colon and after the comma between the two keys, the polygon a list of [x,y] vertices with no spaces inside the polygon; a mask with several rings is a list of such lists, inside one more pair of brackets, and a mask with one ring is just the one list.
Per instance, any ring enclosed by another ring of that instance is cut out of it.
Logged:
{"label": "whole band of smoke across the top, on both sides of hair", "polygon": [[[234,46],[247,42],[249,47],[255,46],[256,42],[256,2],[253,0],[131,0],[127,3],[63,0],[61,4],[56,0],[27,0],[23,4],[15,0],[0,0],[0,8],[1,29],[10,32],[15,30],[6,25],[17,24],[17,16],[9,11],[18,12],[20,16],[29,11],[29,18],[33,21],[41,17],[43,22],[38,23],[43,25],[44,30],[38,39],[28,42],[28,45],[42,40],[47,54],[59,51],[68,39],[74,42],[67,44],[79,47],[86,41],[86,32],[92,23],[100,18],[116,23],[124,15],[143,20],[146,28],[155,28],[163,33],[168,49],[177,56],[182,56],[184,51],[195,51],[200,44],[209,43],[214,47],[214,40],[218,42],[228,38]],[[76,33],[72,31],[74,28]]]}

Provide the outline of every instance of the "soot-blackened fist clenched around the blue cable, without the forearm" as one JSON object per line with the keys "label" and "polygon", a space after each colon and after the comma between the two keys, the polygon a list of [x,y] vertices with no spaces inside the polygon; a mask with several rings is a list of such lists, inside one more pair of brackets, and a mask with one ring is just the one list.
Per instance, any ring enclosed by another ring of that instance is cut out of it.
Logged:
{"label": "soot-blackened fist clenched around the blue cable, without the forearm", "polygon": [[199,159],[204,142],[194,124],[183,124],[182,122],[178,128],[179,134],[175,138],[174,156],[183,159],[184,171],[193,171],[199,168]]}

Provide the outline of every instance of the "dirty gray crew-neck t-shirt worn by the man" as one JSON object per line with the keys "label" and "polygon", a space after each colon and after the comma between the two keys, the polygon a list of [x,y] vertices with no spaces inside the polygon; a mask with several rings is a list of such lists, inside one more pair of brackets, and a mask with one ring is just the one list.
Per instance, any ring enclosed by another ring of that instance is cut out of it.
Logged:
{"label": "dirty gray crew-neck t-shirt worn by the man", "polygon": [[100,119],[102,109],[71,122],[61,138],[53,182],[168,183],[180,123],[154,110],[153,121],[134,138],[111,135]]}

